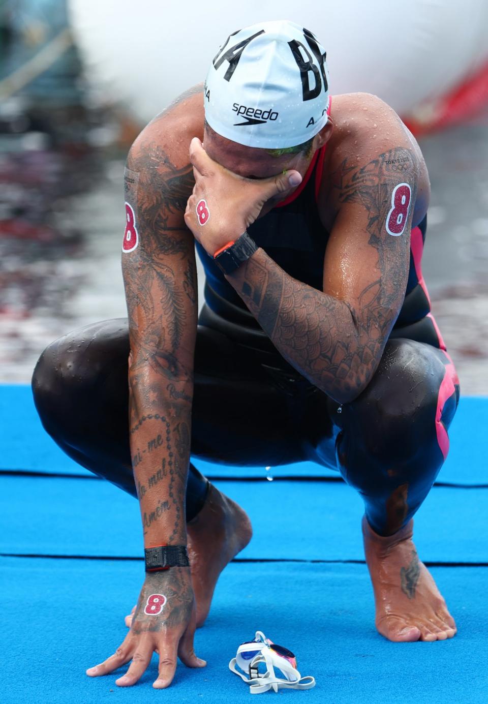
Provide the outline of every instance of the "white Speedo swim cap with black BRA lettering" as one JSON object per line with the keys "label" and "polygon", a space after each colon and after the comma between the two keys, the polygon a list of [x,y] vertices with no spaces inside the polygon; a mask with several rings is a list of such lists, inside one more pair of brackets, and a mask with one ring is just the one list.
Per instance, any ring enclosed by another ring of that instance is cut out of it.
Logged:
{"label": "white Speedo swim cap with black BRA lettering", "polygon": [[307,142],[327,122],[325,49],[287,20],[230,34],[208,71],[205,118],[245,146],[283,149]]}

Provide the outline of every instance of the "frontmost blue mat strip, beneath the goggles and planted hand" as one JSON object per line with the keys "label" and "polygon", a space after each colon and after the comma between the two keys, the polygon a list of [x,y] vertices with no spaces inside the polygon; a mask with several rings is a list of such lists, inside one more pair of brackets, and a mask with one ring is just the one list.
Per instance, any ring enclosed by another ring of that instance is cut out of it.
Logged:
{"label": "frontmost blue mat strip, beneath the goggles and planted hand", "polygon": [[[283,692],[280,699],[334,704],[488,701],[488,568],[431,570],[458,625],[453,639],[390,643],[375,630],[364,565],[230,565],[206,626],[196,633],[196,653],[208,665],[189,670],[179,664],[168,691],[152,689],[156,655],[139,684],[128,689],[115,685],[123,669],[96,679],[85,675],[87,667],[123,641],[123,616],[139,593],[142,564],[2,558],[0,569],[2,634],[10,636],[2,664],[2,704],[249,703],[246,684],[227,664],[256,629],[292,648],[301,674],[317,681],[315,689]],[[275,700],[274,693],[263,696]]]}

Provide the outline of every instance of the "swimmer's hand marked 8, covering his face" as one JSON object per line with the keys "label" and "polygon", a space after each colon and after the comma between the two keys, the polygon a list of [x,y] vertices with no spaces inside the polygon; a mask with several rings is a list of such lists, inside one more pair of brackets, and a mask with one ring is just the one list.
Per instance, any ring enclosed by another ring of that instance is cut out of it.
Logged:
{"label": "swimmer's hand marked 8, covering his face", "polygon": [[197,137],[189,149],[195,186],[187,202],[184,222],[213,257],[235,241],[261,213],[266,203],[280,194],[284,199],[301,183],[298,171],[285,171],[265,179],[246,179],[213,161]]}

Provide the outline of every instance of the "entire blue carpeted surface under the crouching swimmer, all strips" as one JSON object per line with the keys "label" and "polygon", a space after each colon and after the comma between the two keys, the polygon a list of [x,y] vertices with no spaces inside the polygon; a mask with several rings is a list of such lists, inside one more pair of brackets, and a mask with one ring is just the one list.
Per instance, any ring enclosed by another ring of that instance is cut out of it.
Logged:
{"label": "entire blue carpeted surface under the crouching swimmer, all strips", "polygon": [[[377,634],[367,567],[344,564],[364,559],[361,497],[343,482],[316,480],[337,472],[302,463],[273,468],[277,478],[302,480],[267,482],[263,467],[197,460],[249,513],[254,538],[223,572],[208,622],[197,631],[196,653],[208,667],[179,665],[173,686],[155,691],[154,655],[140,683],[120,689],[115,679],[125,670],[97,679],[85,670],[111,655],[127,632],[123,617],[137,600],[143,563],[111,558],[142,555],[139,506],[65,458],[42,430],[27,386],[0,386],[0,704],[249,701],[247,686],[227,664],[256,629],[294,650],[301,674],[317,680],[315,689],[279,696],[333,704],[486,704],[487,420],[488,399],[461,400],[439,474],[439,482],[460,486],[434,486],[415,515],[420,558],[450,565],[430,572],[456,619],[453,639],[390,643]],[[242,480],[253,476],[263,479]]]}

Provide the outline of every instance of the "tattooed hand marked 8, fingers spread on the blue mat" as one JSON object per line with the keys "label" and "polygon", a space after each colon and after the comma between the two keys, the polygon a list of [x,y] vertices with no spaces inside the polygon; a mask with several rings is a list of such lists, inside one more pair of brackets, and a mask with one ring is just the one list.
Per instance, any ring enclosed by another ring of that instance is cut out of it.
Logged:
{"label": "tattooed hand marked 8, fingers spread on the blue mat", "polygon": [[110,658],[87,670],[89,677],[108,674],[132,660],[129,669],[115,680],[118,686],[136,684],[155,651],[159,655],[155,689],[173,681],[177,657],[187,667],[205,667],[193,648],[196,609],[189,567],[170,567],[146,574],[130,631]]}

